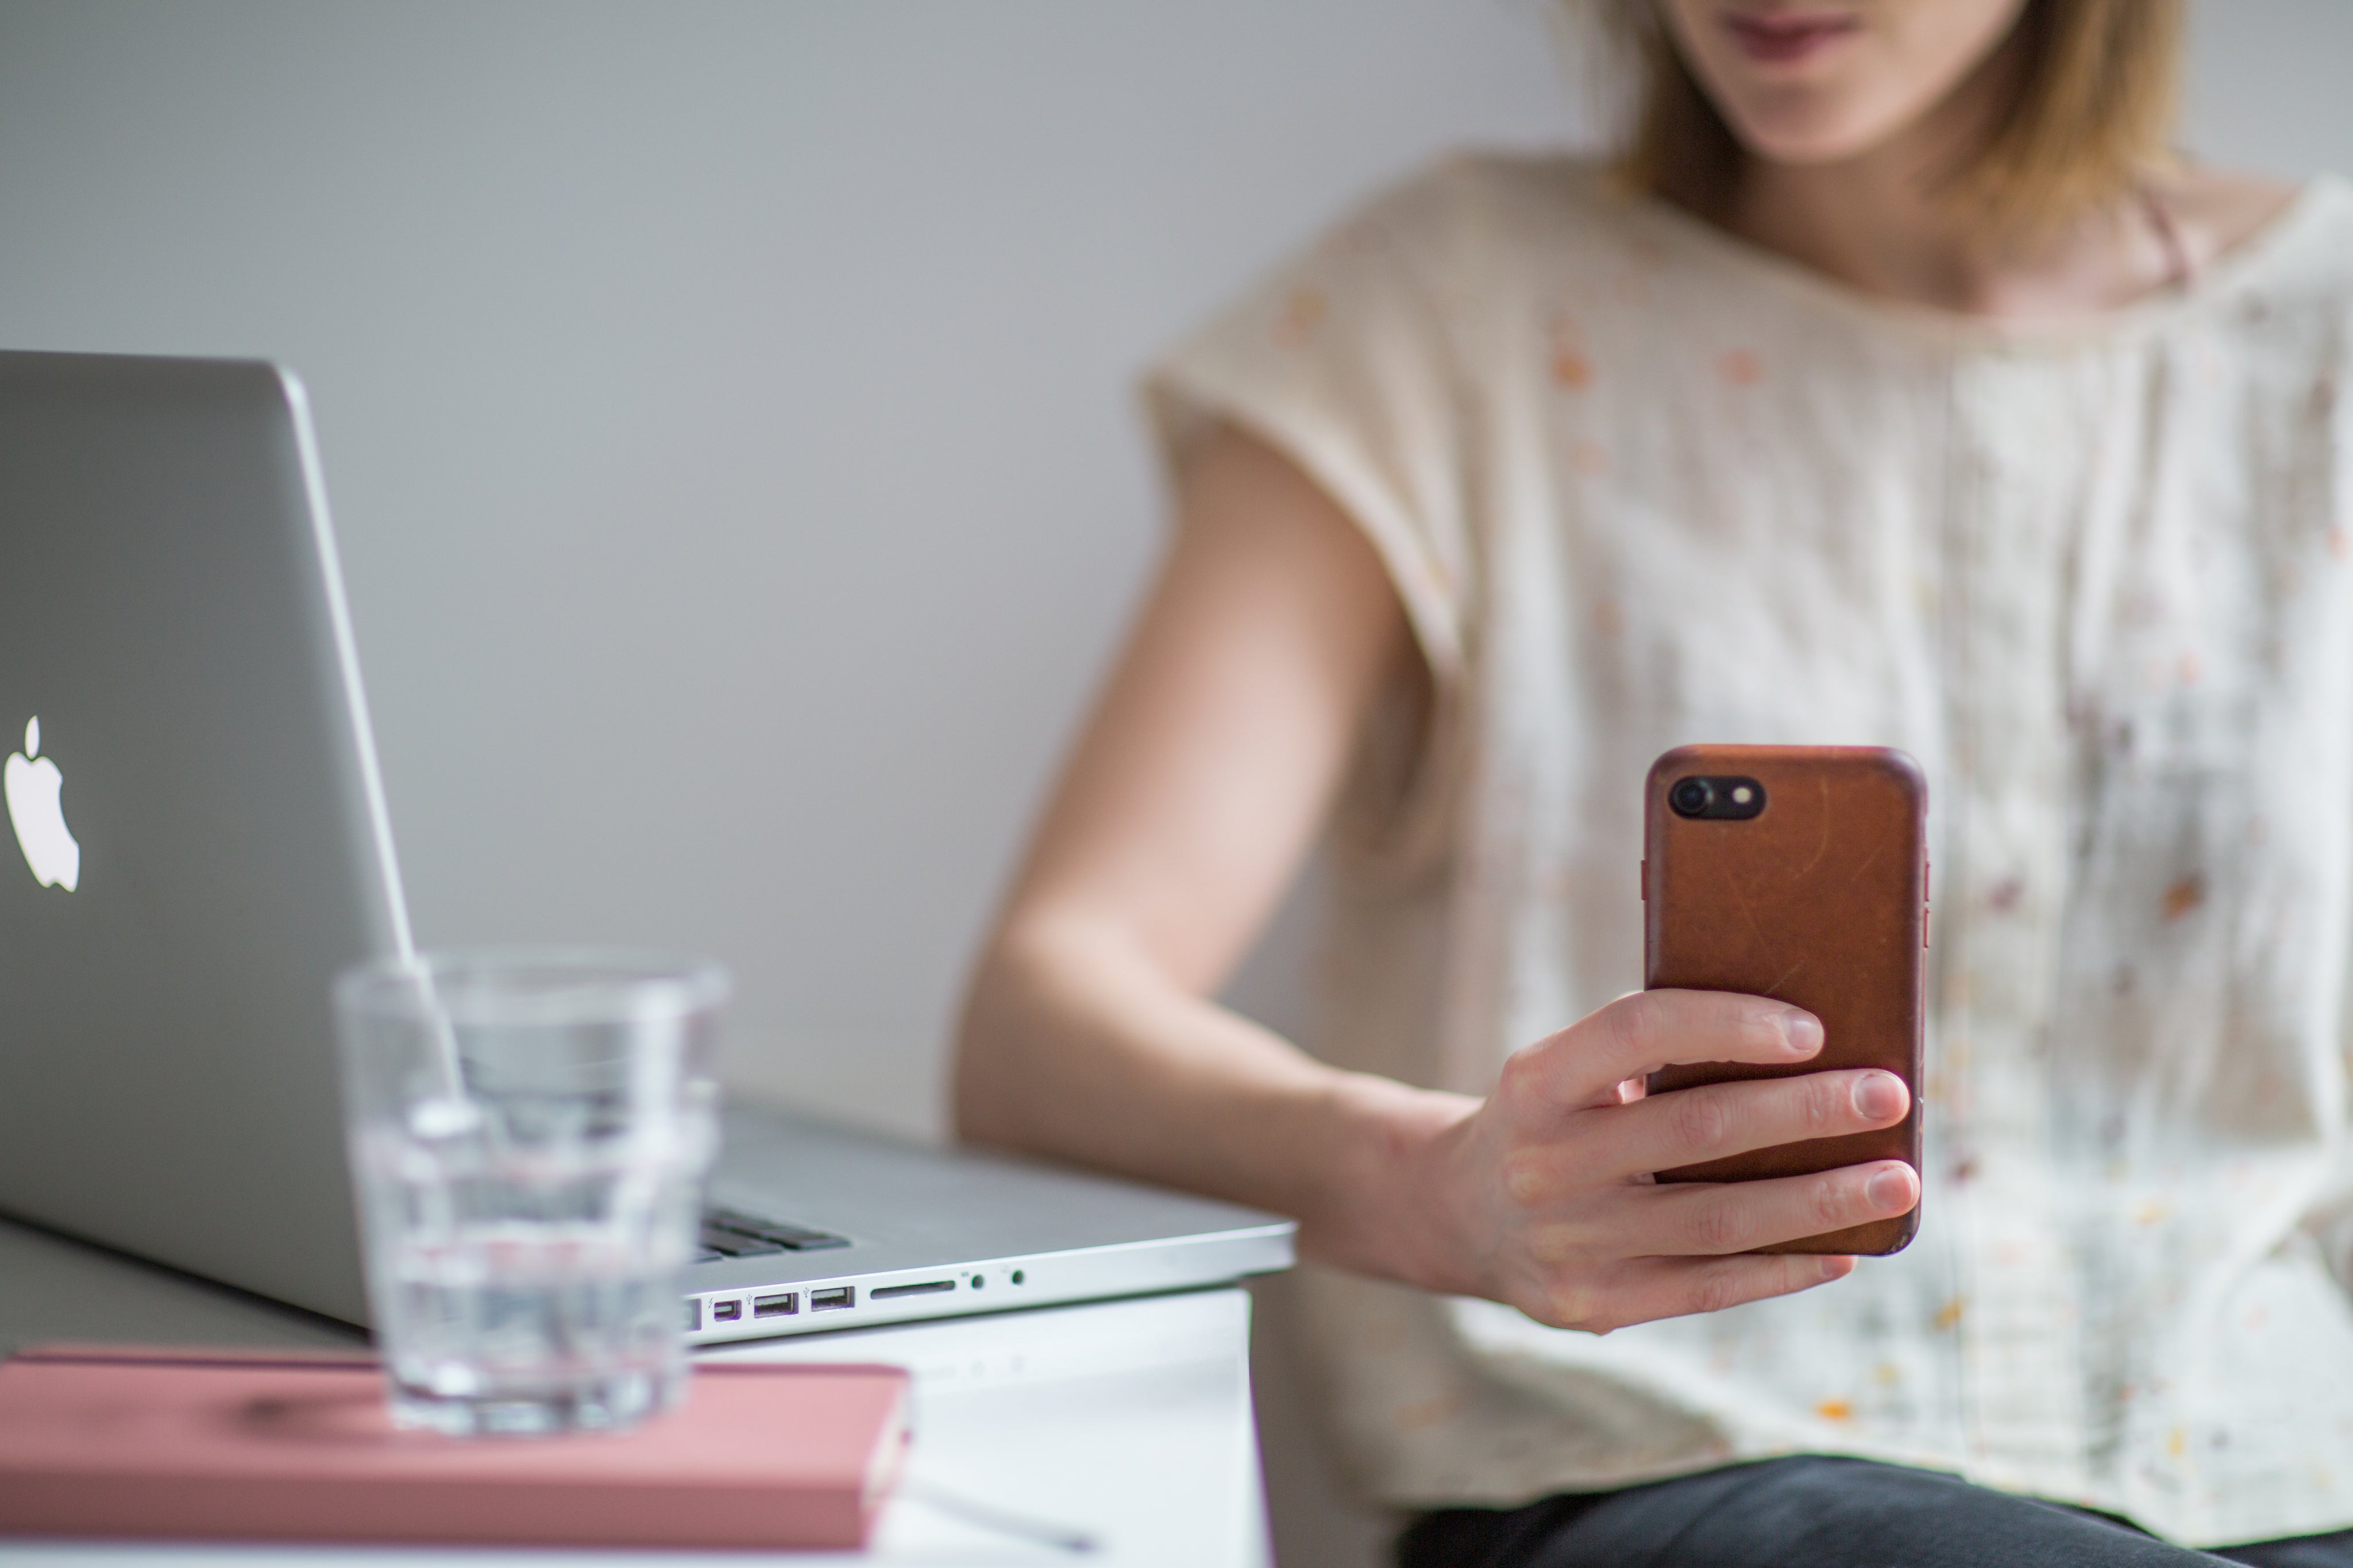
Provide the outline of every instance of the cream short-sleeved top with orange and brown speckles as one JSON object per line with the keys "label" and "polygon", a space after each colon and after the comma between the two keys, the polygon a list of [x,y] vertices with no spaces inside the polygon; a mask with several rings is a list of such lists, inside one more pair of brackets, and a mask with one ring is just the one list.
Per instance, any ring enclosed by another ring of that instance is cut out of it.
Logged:
{"label": "cream short-sleeved top with orange and brown speckles", "polygon": [[2353,1526],[2353,190],[2089,329],[1875,303],[1464,158],[1151,376],[1374,541],[1438,679],[1341,823],[1315,1048],[1485,1093],[1640,985],[1649,759],[1929,776],[1920,1237],[1607,1338],[1306,1272],[1395,1505],[1779,1453],[2221,1544]]}

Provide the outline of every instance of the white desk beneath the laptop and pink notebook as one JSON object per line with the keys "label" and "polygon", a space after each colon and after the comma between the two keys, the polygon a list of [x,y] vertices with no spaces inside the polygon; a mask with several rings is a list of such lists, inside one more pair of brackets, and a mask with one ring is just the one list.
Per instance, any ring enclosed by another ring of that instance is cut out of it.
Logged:
{"label": "white desk beneath the laptop and pink notebook", "polygon": [[[0,1347],[35,1340],[351,1345],[346,1328],[216,1291],[0,1220]],[[1266,1507],[1249,1418],[1249,1298],[1191,1291],[1089,1307],[852,1328],[727,1345],[774,1361],[887,1361],[915,1375],[908,1486],[875,1549],[791,1554],[835,1563],[1264,1568]],[[981,1505],[1056,1530],[1068,1552],[955,1512]],[[0,1542],[0,1561],[54,1568],[652,1568],[753,1561],[652,1552],[329,1552],[315,1547],[118,1547]]]}

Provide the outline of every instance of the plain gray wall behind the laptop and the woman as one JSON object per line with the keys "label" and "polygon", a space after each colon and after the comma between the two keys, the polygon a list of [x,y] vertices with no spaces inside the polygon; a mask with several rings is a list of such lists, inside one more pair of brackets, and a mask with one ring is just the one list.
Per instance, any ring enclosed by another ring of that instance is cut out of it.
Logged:
{"label": "plain gray wall behind the laptop and the woman", "polygon": [[[2353,169],[2348,59],[2205,0],[2188,143]],[[0,0],[0,343],[304,371],[428,943],[711,950],[739,1084],[932,1131],[1151,562],[1132,371],[1569,99],[1539,0]]]}

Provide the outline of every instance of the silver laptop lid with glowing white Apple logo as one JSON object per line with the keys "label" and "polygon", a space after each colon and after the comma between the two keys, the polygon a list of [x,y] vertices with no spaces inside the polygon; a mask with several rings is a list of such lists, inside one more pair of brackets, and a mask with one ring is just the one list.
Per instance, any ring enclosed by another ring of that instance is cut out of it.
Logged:
{"label": "silver laptop lid with glowing white Apple logo", "polygon": [[327,987],[405,945],[301,383],[0,353],[0,1211],[365,1319]]}

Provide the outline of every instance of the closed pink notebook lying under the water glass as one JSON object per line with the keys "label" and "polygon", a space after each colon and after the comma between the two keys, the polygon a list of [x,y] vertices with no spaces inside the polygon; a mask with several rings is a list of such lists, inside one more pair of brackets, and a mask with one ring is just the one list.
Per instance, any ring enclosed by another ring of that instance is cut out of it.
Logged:
{"label": "closed pink notebook lying under the water glass", "polygon": [[708,1363],[619,1436],[395,1432],[360,1356],[122,1347],[0,1363],[0,1535],[864,1547],[896,1366]]}

